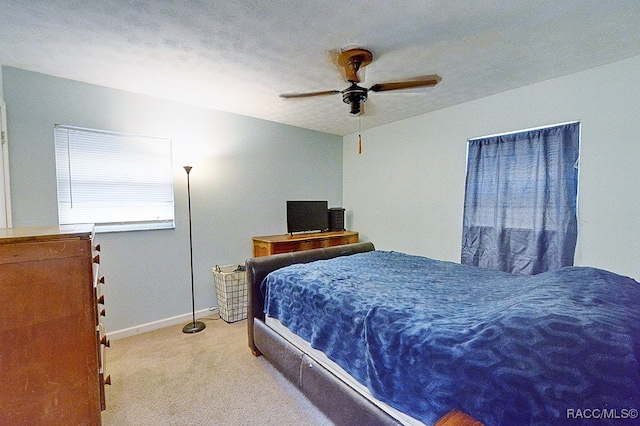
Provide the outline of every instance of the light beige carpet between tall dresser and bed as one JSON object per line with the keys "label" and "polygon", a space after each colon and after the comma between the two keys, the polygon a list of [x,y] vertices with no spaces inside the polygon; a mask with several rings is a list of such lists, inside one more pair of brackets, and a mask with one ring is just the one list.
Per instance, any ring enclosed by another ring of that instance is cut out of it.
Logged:
{"label": "light beige carpet between tall dresser and bed", "polygon": [[264,357],[247,345],[247,322],[201,318],[111,342],[105,426],[331,425]]}

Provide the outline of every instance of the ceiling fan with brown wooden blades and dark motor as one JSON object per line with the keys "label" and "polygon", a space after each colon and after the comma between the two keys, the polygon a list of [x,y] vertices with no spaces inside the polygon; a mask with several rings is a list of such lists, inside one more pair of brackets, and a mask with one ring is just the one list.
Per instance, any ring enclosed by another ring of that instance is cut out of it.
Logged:
{"label": "ceiling fan with brown wooden blades and dark motor", "polygon": [[369,92],[385,92],[389,90],[409,89],[413,87],[435,86],[442,79],[436,74],[423,76],[415,79],[396,81],[391,83],[378,83],[368,89],[358,86],[360,77],[358,71],[366,67],[373,61],[373,54],[362,48],[353,48],[343,50],[337,58],[338,65],[344,68],[347,81],[351,83],[344,90],[325,90],[321,92],[309,93],[284,93],[280,95],[285,99],[308,98],[312,96],[335,95],[342,93],[342,100],[348,104],[351,114],[360,115],[362,112],[362,104],[366,102]]}

